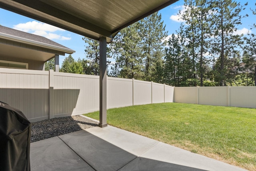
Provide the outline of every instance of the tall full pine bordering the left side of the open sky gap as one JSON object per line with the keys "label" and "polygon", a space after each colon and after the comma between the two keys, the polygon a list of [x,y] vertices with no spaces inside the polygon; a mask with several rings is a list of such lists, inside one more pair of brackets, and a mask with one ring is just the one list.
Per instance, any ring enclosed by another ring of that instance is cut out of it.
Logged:
{"label": "tall full pine bordering the left side of the open sky gap", "polygon": [[[162,65],[164,57],[164,46],[166,42],[162,41],[167,37],[165,25],[161,14],[158,12],[139,21],[140,37],[142,38],[142,52],[144,58],[144,80],[155,81],[154,76],[160,73],[159,68]],[[158,76],[161,77],[162,76]],[[161,80],[161,79],[156,79]]]}

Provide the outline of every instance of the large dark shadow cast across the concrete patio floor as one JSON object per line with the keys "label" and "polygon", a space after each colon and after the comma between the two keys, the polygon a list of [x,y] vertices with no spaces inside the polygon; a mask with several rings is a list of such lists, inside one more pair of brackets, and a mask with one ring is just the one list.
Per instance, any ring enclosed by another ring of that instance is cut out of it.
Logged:
{"label": "large dark shadow cast across the concrete patio floor", "polygon": [[31,170],[202,170],[137,157],[84,130],[32,143],[30,157]]}

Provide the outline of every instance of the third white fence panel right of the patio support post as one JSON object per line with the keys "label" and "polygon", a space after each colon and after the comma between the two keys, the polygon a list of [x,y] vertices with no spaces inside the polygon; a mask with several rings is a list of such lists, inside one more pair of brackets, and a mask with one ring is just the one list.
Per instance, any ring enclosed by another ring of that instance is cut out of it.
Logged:
{"label": "third white fence panel right of the patio support post", "polygon": [[164,103],[164,84],[152,82],[152,103]]}

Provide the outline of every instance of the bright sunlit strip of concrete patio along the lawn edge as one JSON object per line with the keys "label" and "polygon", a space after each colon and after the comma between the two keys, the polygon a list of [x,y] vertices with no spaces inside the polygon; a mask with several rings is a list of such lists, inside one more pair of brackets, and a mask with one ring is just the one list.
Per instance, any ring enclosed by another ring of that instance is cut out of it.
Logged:
{"label": "bright sunlit strip of concrete patio along the lawn edge", "polygon": [[[179,169],[181,169],[180,166],[186,166],[186,169],[197,168],[199,170],[202,169],[210,171],[244,170],[239,167],[205,157],[203,155],[192,153],[190,151],[144,137],[142,135],[112,127],[110,125],[104,129],[100,127],[93,127],[87,129],[87,131],[104,139],[105,141],[112,143],[113,145],[116,145],[117,147],[128,151],[129,153],[137,155],[138,157],[152,159],[152,161],[162,161],[172,163],[174,165],[176,164],[179,166]],[[136,159],[136,161],[138,161],[138,159]],[[143,161],[145,160],[143,159]],[[135,161],[133,161],[133,163],[134,162]],[[149,167],[150,165],[147,166],[148,168],[153,168]]]}

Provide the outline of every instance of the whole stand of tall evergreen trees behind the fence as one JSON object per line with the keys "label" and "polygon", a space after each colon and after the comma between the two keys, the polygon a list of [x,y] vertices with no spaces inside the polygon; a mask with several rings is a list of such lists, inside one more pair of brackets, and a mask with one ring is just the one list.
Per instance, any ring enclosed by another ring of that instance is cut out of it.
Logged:
{"label": "whole stand of tall evergreen trees behind the fence", "polygon": [[[165,30],[158,12],[120,30],[107,47],[108,76],[172,86],[256,85],[256,35],[236,34],[242,18],[256,15],[256,8],[242,15],[246,5],[184,0],[175,34]],[[86,58],[75,61],[70,55],[61,72],[99,75],[99,42],[83,40]]]}

